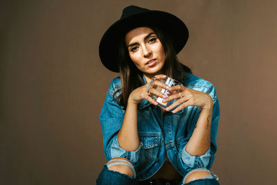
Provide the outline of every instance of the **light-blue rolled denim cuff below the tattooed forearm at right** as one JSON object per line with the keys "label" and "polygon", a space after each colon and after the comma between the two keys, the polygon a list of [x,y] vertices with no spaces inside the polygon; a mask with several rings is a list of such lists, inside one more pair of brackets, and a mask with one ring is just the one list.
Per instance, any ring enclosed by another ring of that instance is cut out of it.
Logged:
{"label": "light-blue rolled denim cuff below the tattooed forearm at right", "polygon": [[207,168],[211,158],[211,148],[202,156],[193,156],[186,152],[186,146],[184,146],[181,152],[181,159],[184,164],[190,168]]}

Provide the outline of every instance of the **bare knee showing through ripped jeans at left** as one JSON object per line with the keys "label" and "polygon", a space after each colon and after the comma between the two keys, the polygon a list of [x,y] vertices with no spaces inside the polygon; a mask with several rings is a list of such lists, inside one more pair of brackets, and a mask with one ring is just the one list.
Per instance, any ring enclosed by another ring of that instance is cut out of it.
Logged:
{"label": "bare knee showing through ripped jeans at left", "polygon": [[129,177],[136,177],[133,164],[131,161],[123,157],[115,157],[108,161],[107,168],[109,168],[109,170],[128,175]]}

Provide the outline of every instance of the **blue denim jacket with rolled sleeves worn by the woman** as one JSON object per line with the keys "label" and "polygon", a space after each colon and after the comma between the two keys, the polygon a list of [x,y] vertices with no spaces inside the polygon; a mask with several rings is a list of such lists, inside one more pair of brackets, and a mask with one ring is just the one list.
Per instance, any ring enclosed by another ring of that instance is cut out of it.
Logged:
{"label": "blue denim jacket with rolled sleeves worn by the woman", "polygon": [[[139,148],[136,151],[126,151],[120,148],[118,131],[123,123],[125,110],[118,105],[117,99],[119,92],[116,91],[121,88],[120,78],[114,78],[107,91],[107,98],[100,114],[104,151],[108,161],[114,157],[129,159],[136,168],[139,180],[148,179],[154,175],[163,166],[166,155],[171,164],[183,176],[194,168],[211,168],[217,150],[215,140],[220,118],[220,105],[215,88],[211,82],[189,73],[184,74],[181,83],[190,89],[203,91],[213,98],[211,147],[206,153],[202,156],[193,156],[186,152],[186,143],[193,134],[201,112],[199,107],[189,106],[175,114],[172,112],[162,113],[159,107],[152,105],[147,100],[142,100],[138,105]],[[116,93],[115,96],[114,93]]]}

